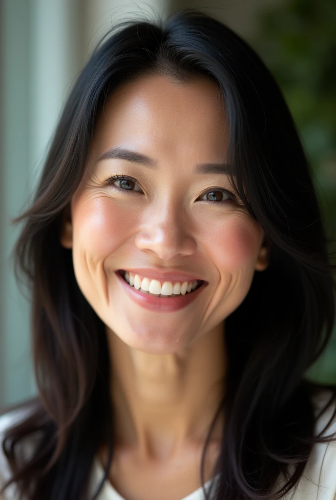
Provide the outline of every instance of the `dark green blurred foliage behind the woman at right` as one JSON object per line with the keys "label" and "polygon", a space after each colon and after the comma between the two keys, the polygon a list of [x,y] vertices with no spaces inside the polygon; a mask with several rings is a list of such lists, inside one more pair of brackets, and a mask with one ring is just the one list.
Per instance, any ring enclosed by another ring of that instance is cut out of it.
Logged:
{"label": "dark green blurred foliage behind the woman at right", "polygon": [[[310,160],[328,237],[336,234],[336,0],[285,0],[260,11],[249,40],[271,70]],[[336,252],[335,241],[329,245]],[[332,260],[334,261],[334,260]],[[307,377],[336,382],[336,325]]]}

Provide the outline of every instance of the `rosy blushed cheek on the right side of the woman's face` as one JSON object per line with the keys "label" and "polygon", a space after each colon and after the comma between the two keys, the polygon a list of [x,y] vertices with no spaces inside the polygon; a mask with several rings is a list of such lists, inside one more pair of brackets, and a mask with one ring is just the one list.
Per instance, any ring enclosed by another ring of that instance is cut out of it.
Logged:
{"label": "rosy blushed cheek on the right side of the woman's face", "polygon": [[260,227],[247,215],[209,224],[208,241],[218,268],[235,271],[253,265],[259,251]]}

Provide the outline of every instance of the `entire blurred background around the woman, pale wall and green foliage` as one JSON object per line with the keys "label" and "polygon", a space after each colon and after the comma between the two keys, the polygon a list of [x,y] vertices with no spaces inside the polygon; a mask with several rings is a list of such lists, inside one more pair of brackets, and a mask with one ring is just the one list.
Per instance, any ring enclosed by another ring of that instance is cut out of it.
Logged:
{"label": "entire blurred background around the woman, pale wall and green foliage", "polygon": [[[29,297],[10,252],[62,105],[113,22],[195,7],[227,23],[280,85],[310,158],[329,238],[336,237],[335,0],[0,0],[0,406],[36,393]],[[335,245],[330,245],[335,251]],[[336,382],[336,331],[308,377]]]}

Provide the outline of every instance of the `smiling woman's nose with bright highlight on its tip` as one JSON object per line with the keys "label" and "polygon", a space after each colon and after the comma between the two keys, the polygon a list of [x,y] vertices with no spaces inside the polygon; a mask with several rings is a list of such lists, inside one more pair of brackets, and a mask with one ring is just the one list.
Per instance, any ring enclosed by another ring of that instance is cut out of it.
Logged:
{"label": "smiling woman's nose with bright highlight on its tip", "polygon": [[180,205],[171,200],[145,212],[135,244],[142,251],[155,253],[160,260],[191,255],[196,249],[192,223]]}

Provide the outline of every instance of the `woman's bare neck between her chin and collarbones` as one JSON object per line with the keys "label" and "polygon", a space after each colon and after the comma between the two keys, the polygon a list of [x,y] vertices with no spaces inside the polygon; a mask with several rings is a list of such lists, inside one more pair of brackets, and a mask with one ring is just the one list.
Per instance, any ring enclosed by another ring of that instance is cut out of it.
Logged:
{"label": "woman's bare neck between her chin and collarbones", "polygon": [[[138,456],[168,459],[203,445],[224,395],[224,323],[183,350],[149,354],[107,329],[116,446]],[[211,433],[222,435],[222,418]]]}

